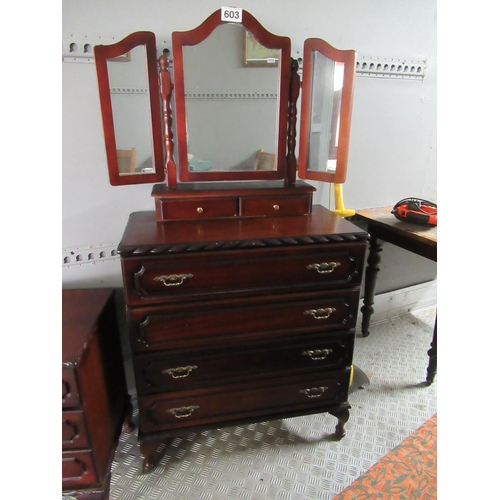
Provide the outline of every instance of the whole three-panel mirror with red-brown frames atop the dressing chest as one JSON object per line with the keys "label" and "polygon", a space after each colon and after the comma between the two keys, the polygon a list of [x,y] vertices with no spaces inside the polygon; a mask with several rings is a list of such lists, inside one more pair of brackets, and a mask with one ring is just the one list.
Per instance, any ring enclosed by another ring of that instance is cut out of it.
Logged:
{"label": "whole three-panel mirror with red-brown frames atop the dressing chest", "polygon": [[197,28],[172,33],[172,106],[160,99],[160,55],[150,32],[95,47],[112,185],[164,181],[166,144],[175,151],[171,189],[177,182],[294,182],[300,86],[299,177],[345,181],[353,50],[306,40],[300,84],[288,37],[245,10],[239,22],[217,10]]}

